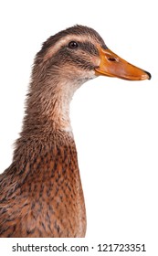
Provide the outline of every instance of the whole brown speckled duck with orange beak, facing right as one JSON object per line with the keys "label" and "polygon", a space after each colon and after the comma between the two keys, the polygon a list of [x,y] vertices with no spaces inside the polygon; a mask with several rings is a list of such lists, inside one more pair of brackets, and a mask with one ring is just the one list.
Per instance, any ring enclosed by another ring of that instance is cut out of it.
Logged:
{"label": "whole brown speckled duck with orange beak, facing right", "polygon": [[76,25],[37,52],[22,131],[11,165],[0,175],[1,238],[83,238],[86,207],[69,119],[73,94],[99,76],[150,80],[111,51],[99,33]]}

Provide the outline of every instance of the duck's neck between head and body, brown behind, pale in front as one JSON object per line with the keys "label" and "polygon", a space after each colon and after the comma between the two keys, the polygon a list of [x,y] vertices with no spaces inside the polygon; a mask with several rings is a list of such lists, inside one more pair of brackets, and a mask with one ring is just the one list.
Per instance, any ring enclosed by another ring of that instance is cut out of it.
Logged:
{"label": "duck's neck between head and body, brown behind, pale in front", "polygon": [[26,117],[23,133],[41,130],[47,131],[47,123],[52,123],[52,129],[72,133],[69,119],[69,104],[79,84],[52,81],[47,84],[34,84],[26,101]]}

